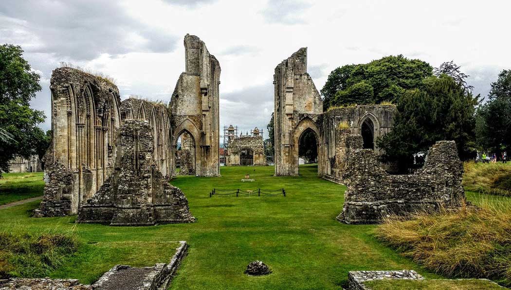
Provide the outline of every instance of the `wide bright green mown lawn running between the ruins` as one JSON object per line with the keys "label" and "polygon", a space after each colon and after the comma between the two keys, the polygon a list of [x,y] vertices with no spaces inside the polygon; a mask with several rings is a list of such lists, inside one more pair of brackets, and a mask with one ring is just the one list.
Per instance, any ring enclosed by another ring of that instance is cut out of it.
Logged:
{"label": "wide bright green mown lawn running between the ruins", "polygon": [[[193,224],[110,227],[75,224],[76,217],[36,219],[30,210],[38,202],[32,202],[0,210],[0,230],[74,231],[84,246],[51,277],[83,283],[94,282],[117,263],[167,261],[175,245],[161,243],[166,241],[190,244],[172,289],[339,289],[352,270],[412,269],[440,278],[380,244],[372,234],[374,225],[337,222],[345,187],[318,178],[316,171],[306,165],[300,167],[302,176],[273,177],[273,167],[221,167],[222,177],[178,176],[171,183],[187,196],[197,218]],[[245,174],[255,182],[240,182]],[[210,198],[213,188],[284,188],[287,197]],[[481,200],[475,194],[471,198]],[[246,265],[258,259],[273,273],[244,275]]]}

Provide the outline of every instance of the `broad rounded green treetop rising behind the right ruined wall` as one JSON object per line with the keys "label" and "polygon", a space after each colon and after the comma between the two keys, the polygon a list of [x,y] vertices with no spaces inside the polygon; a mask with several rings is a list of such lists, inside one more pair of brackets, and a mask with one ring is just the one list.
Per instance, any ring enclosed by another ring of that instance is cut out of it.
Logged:
{"label": "broad rounded green treetop rising behind the right ruined wall", "polygon": [[324,109],[346,104],[398,102],[406,90],[422,89],[433,68],[422,60],[388,56],[332,71],[321,89]]}

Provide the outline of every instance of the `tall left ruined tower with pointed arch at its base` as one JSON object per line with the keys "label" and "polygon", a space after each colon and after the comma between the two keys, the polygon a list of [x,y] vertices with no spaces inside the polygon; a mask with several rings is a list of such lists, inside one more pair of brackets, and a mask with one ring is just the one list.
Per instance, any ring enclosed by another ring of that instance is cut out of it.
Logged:
{"label": "tall left ruined tower with pointed arch at its base", "polygon": [[186,71],[171,98],[173,144],[186,131],[195,144],[196,175],[218,176],[220,64],[197,36],[187,34],[184,48]]}

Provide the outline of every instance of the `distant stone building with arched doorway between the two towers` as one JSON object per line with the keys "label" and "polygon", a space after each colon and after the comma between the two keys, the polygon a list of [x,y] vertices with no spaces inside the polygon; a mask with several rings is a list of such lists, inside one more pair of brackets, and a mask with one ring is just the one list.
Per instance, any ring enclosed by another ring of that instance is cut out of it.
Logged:
{"label": "distant stone building with arched doorway between the two towers", "polygon": [[[230,125],[229,129],[231,127],[233,125]],[[229,138],[227,148],[227,166],[266,165],[263,134],[258,127],[251,131],[251,135],[240,135],[239,137],[233,135],[233,137]]]}

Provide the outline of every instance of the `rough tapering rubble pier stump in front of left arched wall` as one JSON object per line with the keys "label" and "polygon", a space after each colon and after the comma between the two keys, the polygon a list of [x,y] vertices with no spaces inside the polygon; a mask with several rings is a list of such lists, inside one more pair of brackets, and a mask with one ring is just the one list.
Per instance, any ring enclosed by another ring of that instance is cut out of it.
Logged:
{"label": "rough tapering rubble pier stump in front of left arched wall", "polygon": [[120,168],[79,209],[77,222],[120,226],[194,222],[184,194],[154,163],[149,123],[125,120],[121,148]]}

